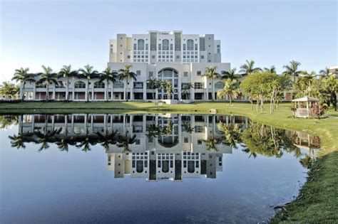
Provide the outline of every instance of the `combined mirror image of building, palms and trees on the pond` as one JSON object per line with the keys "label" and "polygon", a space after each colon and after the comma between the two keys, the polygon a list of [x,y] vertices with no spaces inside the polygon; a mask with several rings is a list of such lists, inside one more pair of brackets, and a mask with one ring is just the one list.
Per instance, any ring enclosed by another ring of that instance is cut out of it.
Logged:
{"label": "combined mirror image of building, palms and trees on the pond", "polygon": [[[306,168],[319,150],[319,138],[277,129],[246,117],[191,114],[23,114],[1,116],[3,128],[19,123],[9,136],[11,146],[39,145],[39,151],[56,144],[60,151],[75,146],[91,151],[101,145],[107,168],[115,178],[130,175],[147,181],[216,178],[222,156],[232,149],[249,158],[292,152]],[[302,153],[301,149],[307,150]]]}

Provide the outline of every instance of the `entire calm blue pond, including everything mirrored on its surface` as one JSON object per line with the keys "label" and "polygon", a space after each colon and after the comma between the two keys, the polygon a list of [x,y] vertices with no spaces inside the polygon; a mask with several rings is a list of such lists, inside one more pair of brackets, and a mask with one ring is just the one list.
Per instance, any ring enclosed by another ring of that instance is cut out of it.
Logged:
{"label": "entire calm blue pond, including everything mirrored on its surface", "polygon": [[319,148],[317,137],[227,115],[0,121],[1,223],[267,221],[297,196]]}

